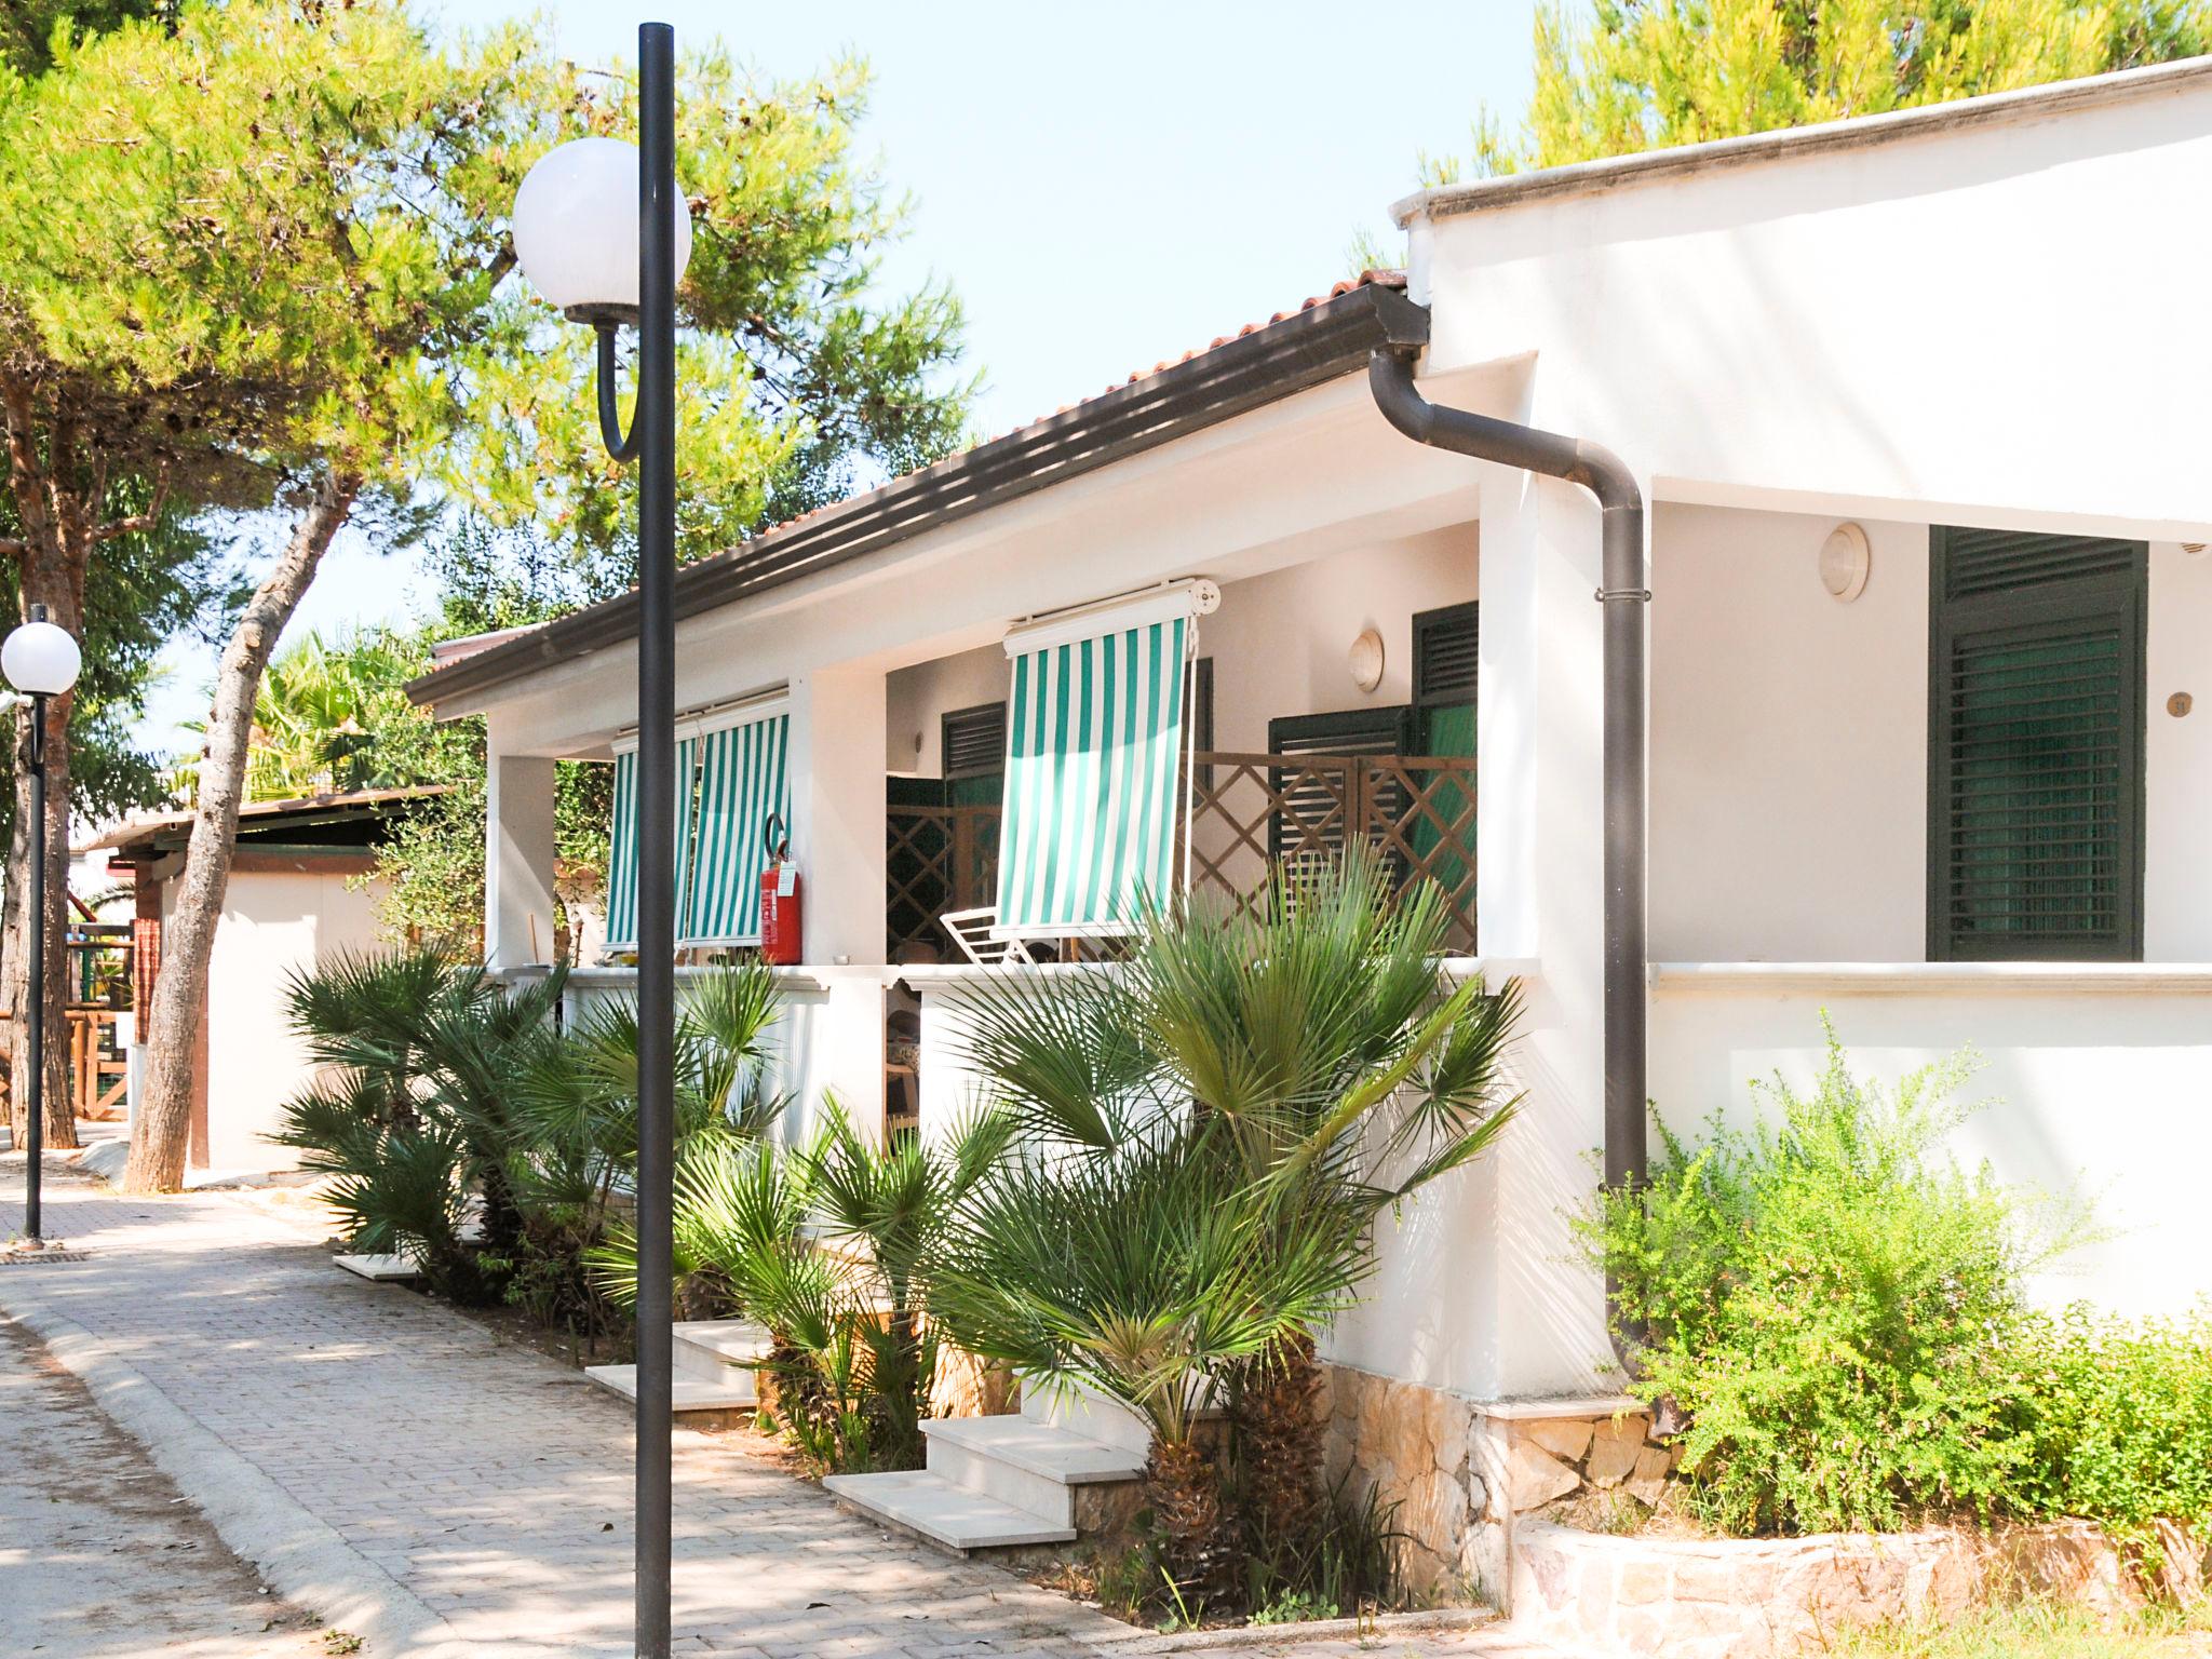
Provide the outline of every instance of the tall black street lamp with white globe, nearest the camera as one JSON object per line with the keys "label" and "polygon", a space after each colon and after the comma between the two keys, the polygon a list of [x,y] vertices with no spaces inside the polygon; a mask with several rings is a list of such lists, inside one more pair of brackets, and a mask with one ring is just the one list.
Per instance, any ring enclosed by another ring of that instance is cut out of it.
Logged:
{"label": "tall black street lamp with white globe, nearest the camera", "polygon": [[[637,148],[577,139],[515,195],[515,257],[599,334],[599,436],[637,460],[637,1659],[668,1659],[670,1307],[675,1263],[677,279],[690,212],[675,179],[675,31],[637,29]],[[637,327],[637,411],[615,407],[615,330]]]}

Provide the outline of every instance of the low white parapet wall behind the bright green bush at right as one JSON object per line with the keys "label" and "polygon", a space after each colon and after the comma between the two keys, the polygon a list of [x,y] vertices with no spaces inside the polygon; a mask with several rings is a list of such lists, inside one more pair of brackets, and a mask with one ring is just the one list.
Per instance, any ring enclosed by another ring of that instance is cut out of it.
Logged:
{"label": "low white parapet wall behind the bright green bush at right", "polygon": [[[2008,982],[1927,969],[1922,984],[1681,984],[1652,998],[1650,1091],[1677,1130],[1712,1110],[1743,1119],[1750,1079],[1794,1086],[1823,1060],[1820,1013],[1863,1079],[1973,1046],[1986,1066],[1962,1099],[1986,1106],[1958,1133],[1962,1164],[2070,1194],[2110,1232],[2042,1276],[2046,1303],[2090,1298],[2121,1314],[2185,1314],[2212,1294],[2212,973],[2179,982],[2026,971]],[[2139,975],[2141,971],[2137,971]]]}

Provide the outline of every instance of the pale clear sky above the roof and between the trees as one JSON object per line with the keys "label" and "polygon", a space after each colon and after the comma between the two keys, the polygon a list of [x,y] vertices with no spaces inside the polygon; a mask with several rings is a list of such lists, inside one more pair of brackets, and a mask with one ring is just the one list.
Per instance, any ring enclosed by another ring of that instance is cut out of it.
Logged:
{"label": "pale clear sky above the roof and between the trees", "polygon": [[[456,29],[529,11],[431,4]],[[1484,102],[1524,106],[1531,13],[1533,0],[540,9],[580,64],[633,60],[646,18],[675,24],[679,49],[719,31],[772,75],[863,51],[865,142],[916,204],[885,281],[936,272],[960,292],[987,434],[1325,290],[1358,226],[1396,248],[1385,208],[1416,155],[1464,150]],[[292,628],[400,617],[425,597],[407,560],[349,540]],[[173,653],[146,739],[166,748],[204,714],[210,679],[212,653]]]}

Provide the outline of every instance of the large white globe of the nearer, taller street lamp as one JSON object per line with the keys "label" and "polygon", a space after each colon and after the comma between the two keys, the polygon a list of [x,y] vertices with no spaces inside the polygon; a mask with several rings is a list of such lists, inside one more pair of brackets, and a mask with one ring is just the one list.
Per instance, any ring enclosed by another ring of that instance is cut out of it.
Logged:
{"label": "large white globe of the nearer, taller street lamp", "polygon": [[[546,150],[515,192],[515,259],[575,323],[637,321],[637,146],[573,139]],[[690,208],[675,199],[677,281],[690,263]]]}

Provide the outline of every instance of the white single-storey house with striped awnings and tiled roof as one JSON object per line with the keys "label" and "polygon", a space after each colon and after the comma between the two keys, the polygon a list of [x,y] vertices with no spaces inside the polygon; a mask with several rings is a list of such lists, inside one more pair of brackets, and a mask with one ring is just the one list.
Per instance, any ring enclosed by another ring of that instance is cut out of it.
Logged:
{"label": "white single-storey house with striped awnings and tiled roof", "polygon": [[[1960,1150],[2110,1230],[2053,1294],[2185,1310],[2212,1290],[2208,201],[2212,60],[1429,190],[1396,208],[1402,279],[681,571],[699,845],[790,821],[805,1077],[878,1099],[905,987],[927,1130],[967,1088],[947,995],[1020,971],[956,960],[933,909],[1079,931],[1130,872],[1234,885],[1352,823],[1524,980],[1528,1108],[1409,1208],[1332,1356],[1478,1429],[1606,1394],[1568,1214],[1606,1139],[1613,608],[1648,708],[1621,730],[1648,787],[1613,772],[1615,1037],[1648,1022],[1615,1086],[1641,1064],[1670,1121],[1741,1110],[1809,1073],[1823,1009],[1878,1075],[1973,1044],[1995,1104]],[[1411,349],[1420,398],[1621,460],[1639,584],[1595,599],[1584,487],[1378,411],[1369,358]],[[489,723],[500,964],[553,938],[553,761],[619,754],[635,626],[606,604],[414,688]],[[1188,672],[1130,706],[1179,637]],[[1130,763],[1099,779],[1079,710],[1113,697]],[[761,741],[781,774],[734,783]],[[1051,869],[1009,876],[993,832]],[[690,936],[745,938],[757,865],[695,867]],[[1411,1520],[1475,1540],[1484,1482],[1447,1462],[1398,1471]]]}

